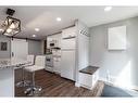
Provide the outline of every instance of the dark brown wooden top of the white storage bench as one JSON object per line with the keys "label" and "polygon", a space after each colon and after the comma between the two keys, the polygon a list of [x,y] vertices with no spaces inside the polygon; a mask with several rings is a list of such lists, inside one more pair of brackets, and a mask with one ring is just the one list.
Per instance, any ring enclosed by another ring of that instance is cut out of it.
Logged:
{"label": "dark brown wooden top of the white storage bench", "polygon": [[86,68],[80,69],[79,73],[92,75],[92,74],[96,73],[98,69],[99,69],[99,67],[97,67],[97,66],[87,66]]}

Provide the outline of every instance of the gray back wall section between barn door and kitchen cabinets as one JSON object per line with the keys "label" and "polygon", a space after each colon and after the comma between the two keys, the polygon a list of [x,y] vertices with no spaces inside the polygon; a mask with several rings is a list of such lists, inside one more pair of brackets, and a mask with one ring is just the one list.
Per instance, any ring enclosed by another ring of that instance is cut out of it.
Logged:
{"label": "gray back wall section between barn door and kitchen cabinets", "polygon": [[28,40],[28,54],[42,54],[41,41]]}

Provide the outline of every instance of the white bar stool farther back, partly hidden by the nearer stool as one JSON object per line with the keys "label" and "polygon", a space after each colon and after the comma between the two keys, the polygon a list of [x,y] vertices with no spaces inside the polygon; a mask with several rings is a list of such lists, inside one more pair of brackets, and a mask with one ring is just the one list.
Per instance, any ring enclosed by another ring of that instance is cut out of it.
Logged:
{"label": "white bar stool farther back, partly hidden by the nearer stool", "polygon": [[25,64],[23,66],[21,66],[22,68],[22,80],[20,82],[16,83],[16,87],[27,87],[30,85],[29,80],[25,80],[25,67],[26,66],[32,66],[34,65],[34,60],[35,60],[35,55],[27,55],[27,62],[29,62],[29,64]]}

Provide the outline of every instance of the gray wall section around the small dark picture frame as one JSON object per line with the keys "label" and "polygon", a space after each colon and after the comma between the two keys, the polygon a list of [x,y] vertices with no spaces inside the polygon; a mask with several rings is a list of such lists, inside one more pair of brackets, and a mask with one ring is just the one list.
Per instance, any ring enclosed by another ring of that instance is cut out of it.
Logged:
{"label": "gray wall section around the small dark picture frame", "polygon": [[10,40],[10,38],[0,35],[0,42],[8,42],[8,51],[1,51],[0,50],[0,59],[10,57],[10,52],[11,52],[11,40]]}

